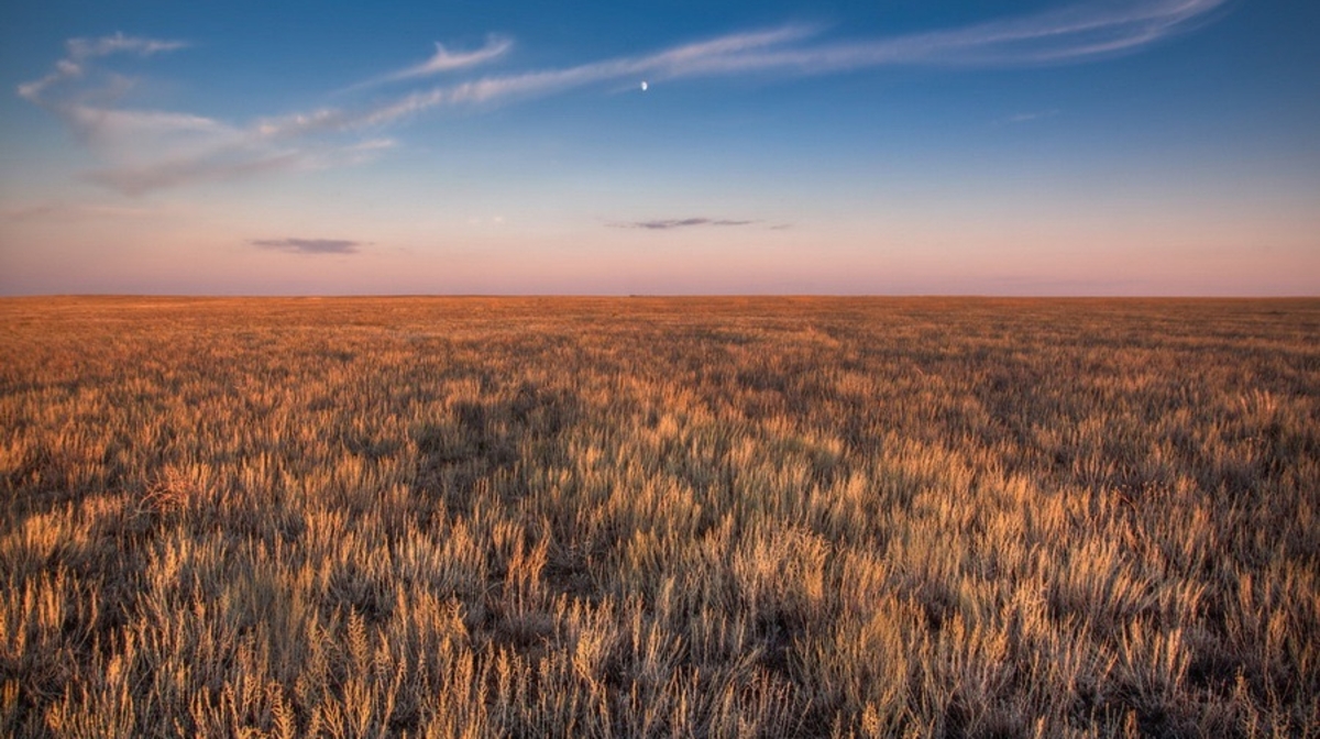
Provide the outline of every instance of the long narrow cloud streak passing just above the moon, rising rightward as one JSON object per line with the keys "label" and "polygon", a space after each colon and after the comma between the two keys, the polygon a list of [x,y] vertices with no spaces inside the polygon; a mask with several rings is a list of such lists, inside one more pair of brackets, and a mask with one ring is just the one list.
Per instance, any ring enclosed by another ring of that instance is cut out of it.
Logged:
{"label": "long narrow cloud streak passing just above the moon, rising rightward", "polygon": [[589,84],[779,73],[818,75],[880,66],[1034,66],[1135,51],[1204,21],[1228,0],[1093,1],[1022,18],[863,41],[812,41],[820,29],[735,33],[655,54],[564,69],[490,75],[436,87],[346,115],[346,127],[383,125],[417,112],[552,95]]}

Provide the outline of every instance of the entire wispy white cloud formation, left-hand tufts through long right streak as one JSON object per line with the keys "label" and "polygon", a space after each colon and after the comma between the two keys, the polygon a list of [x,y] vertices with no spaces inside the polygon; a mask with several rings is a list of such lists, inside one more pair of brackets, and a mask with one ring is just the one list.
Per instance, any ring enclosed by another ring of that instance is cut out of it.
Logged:
{"label": "entire wispy white cloud formation, left-hand tufts through long right streak", "polygon": [[[822,38],[822,29],[784,26],[731,33],[663,49],[560,69],[475,77],[362,107],[323,107],[249,124],[176,111],[144,111],[87,100],[111,99],[91,87],[95,77],[131,84],[123,75],[94,75],[114,55],[154,57],[183,41],[115,34],[71,40],[67,55],[18,95],[53,111],[88,143],[103,166],[88,178],[131,195],[195,182],[246,178],[289,169],[323,169],[371,161],[393,140],[380,131],[433,108],[496,104],[620,80],[680,80],[746,74],[821,75],[884,66],[1014,67],[1078,63],[1134,53],[1213,17],[1228,0],[1092,0],[1032,16],[871,40]],[[437,45],[429,59],[345,91],[465,73],[504,55],[512,41],[487,37],[473,51]],[[367,140],[362,140],[363,136]],[[657,222],[660,223],[660,222]],[[663,228],[663,227],[661,227]]]}

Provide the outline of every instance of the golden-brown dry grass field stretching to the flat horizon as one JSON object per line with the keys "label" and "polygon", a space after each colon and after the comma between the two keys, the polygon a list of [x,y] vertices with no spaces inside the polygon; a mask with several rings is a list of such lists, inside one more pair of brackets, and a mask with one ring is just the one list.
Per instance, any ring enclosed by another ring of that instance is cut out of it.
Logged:
{"label": "golden-brown dry grass field stretching to the flat horizon", "polygon": [[0,490],[3,735],[1320,735],[1320,301],[0,300]]}

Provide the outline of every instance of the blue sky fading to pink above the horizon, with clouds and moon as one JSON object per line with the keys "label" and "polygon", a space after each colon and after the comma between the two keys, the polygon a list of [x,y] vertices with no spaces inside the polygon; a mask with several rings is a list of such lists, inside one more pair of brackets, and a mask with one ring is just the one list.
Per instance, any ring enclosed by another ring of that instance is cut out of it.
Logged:
{"label": "blue sky fading to pink above the horizon, with clouds and moon", "polygon": [[0,7],[0,294],[1320,296],[1320,4]]}

